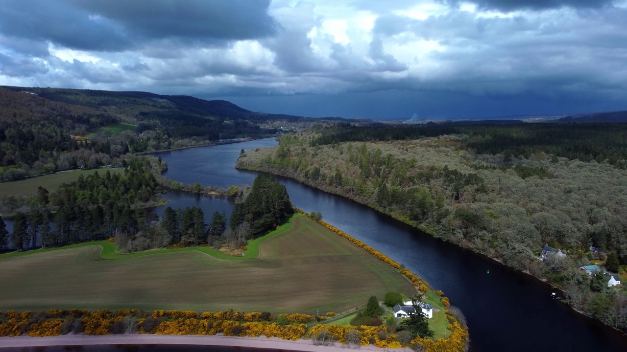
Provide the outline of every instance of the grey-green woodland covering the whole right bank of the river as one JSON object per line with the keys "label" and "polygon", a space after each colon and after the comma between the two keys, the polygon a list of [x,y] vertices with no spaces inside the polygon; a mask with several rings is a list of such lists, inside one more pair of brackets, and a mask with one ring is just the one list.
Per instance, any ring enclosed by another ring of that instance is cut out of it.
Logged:
{"label": "grey-green woodland covering the whole right bank of the river", "polygon": [[[285,135],[278,147],[246,152],[238,167],[344,195],[548,279],[576,308],[625,329],[625,292],[599,285],[606,275],[587,280],[579,271],[606,260],[607,271],[625,270],[625,133],[624,125],[568,124],[343,128]],[[517,143],[506,143],[508,134]],[[589,148],[577,153],[571,142]],[[547,244],[568,255],[540,261]]]}

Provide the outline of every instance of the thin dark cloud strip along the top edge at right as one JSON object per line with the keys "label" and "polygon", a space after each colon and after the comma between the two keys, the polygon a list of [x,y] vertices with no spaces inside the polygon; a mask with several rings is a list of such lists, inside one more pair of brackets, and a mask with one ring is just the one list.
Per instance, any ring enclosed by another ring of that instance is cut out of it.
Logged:
{"label": "thin dark cloud strip along the top edge at right", "polygon": [[[460,4],[467,0],[440,0],[444,4]],[[470,0],[480,9],[495,9],[510,12],[521,9],[552,9],[564,6],[571,8],[601,8],[612,4],[612,0]]]}

